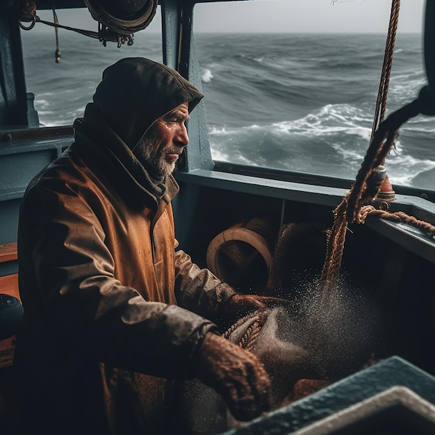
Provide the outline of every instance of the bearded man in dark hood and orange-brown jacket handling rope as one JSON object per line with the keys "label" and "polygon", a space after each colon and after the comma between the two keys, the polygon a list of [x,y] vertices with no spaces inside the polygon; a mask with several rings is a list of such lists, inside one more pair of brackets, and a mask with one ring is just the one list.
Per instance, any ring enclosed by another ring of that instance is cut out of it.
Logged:
{"label": "bearded man in dark hood and orange-brown jacket handling rope", "polygon": [[199,378],[238,420],[270,409],[263,366],[216,326],[267,300],[200,269],[174,237],[172,171],[202,97],[165,65],[118,61],[72,145],[28,186],[14,362],[23,434],[163,434],[172,379]]}

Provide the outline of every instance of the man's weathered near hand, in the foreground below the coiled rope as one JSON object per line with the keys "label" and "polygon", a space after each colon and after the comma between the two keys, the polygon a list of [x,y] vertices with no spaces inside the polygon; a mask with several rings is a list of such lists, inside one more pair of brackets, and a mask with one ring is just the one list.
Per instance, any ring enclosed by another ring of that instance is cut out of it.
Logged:
{"label": "man's weathered near hand, in the foreground below the coiled rope", "polygon": [[198,378],[222,395],[234,418],[248,421],[270,411],[270,379],[254,354],[208,332],[198,358]]}

